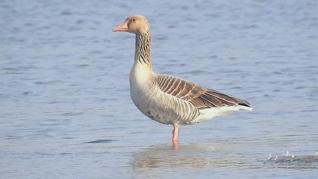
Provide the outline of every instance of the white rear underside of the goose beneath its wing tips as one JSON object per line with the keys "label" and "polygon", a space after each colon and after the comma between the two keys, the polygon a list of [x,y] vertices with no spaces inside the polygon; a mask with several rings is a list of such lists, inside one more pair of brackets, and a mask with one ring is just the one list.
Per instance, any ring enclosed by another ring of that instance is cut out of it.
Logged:
{"label": "white rear underside of the goose beneath its wing tips", "polygon": [[204,122],[212,118],[225,116],[243,109],[251,111],[253,108],[247,106],[223,106],[199,109],[201,114],[191,122]]}

